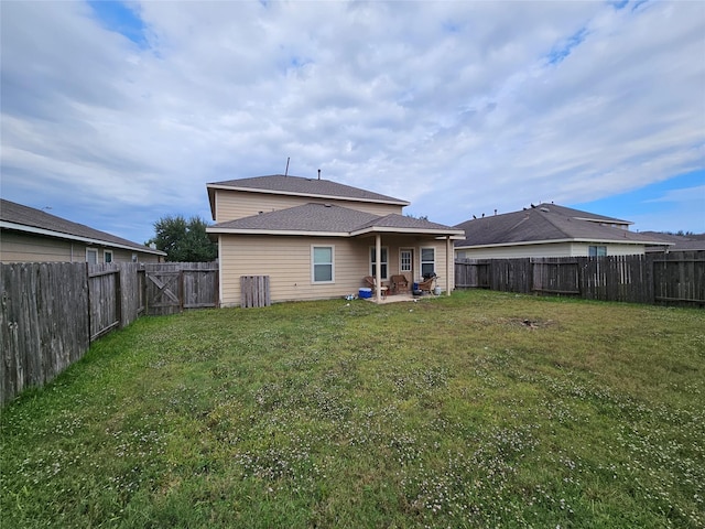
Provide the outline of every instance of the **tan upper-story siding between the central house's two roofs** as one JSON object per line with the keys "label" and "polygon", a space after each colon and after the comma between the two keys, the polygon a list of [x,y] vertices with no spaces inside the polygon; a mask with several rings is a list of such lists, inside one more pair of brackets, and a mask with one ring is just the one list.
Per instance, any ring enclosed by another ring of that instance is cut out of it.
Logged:
{"label": "tan upper-story siding between the central house's two roofs", "polygon": [[216,190],[216,223],[225,223],[237,218],[250,217],[259,213],[269,213],[304,204],[335,204],[375,215],[402,213],[402,206],[394,204],[376,204],[333,198],[314,198],[307,196],[274,195],[268,193],[246,193],[240,191]]}

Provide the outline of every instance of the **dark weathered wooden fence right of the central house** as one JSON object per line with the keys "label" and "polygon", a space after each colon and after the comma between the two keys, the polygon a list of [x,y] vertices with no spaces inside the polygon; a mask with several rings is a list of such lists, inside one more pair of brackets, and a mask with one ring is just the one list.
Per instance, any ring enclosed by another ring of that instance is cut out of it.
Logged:
{"label": "dark weathered wooden fence right of the central house", "polygon": [[456,288],[630,303],[705,305],[705,251],[646,256],[460,259]]}

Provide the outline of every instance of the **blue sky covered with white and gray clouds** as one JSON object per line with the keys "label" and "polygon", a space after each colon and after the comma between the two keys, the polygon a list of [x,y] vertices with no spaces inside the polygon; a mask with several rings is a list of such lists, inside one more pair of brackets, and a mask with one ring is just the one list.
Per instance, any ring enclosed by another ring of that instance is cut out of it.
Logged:
{"label": "blue sky covered with white and gray clouds", "polygon": [[705,2],[0,10],[2,197],[138,242],[288,159],[447,225],[555,202],[705,231]]}

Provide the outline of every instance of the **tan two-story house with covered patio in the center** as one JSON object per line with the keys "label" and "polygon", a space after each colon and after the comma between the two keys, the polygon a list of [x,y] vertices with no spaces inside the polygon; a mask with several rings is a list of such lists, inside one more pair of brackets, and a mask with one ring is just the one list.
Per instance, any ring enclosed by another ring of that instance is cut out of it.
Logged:
{"label": "tan two-story house with covered patio in the center", "polygon": [[405,201],[284,175],[215,182],[207,190],[224,306],[240,304],[242,276],[269,276],[272,302],[356,294],[366,276],[387,285],[403,274],[411,284],[435,272],[444,291],[454,288],[452,240],[463,231],[404,216]]}

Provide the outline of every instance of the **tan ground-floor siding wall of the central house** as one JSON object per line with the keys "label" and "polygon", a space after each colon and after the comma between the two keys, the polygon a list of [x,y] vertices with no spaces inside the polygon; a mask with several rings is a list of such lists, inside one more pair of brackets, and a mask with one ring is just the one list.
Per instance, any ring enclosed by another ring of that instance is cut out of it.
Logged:
{"label": "tan ground-floor siding wall of the central house", "polygon": [[[285,236],[236,236],[220,235],[220,292],[223,306],[240,304],[241,276],[269,276],[270,296],[273,303],[343,298],[357,294],[365,287],[362,278],[369,274],[369,252],[375,237],[285,237]],[[312,246],[335,248],[334,277],[332,283],[314,283],[311,278]],[[382,236],[382,246],[389,248],[389,274],[399,273],[399,248],[415,248],[414,270],[420,270],[420,248],[436,249],[436,273],[438,285],[445,291],[446,249],[445,240]],[[453,256],[451,256],[453,259]],[[451,273],[453,274],[451,267]],[[414,278],[414,281],[419,279]],[[451,288],[453,289],[453,277]]]}

